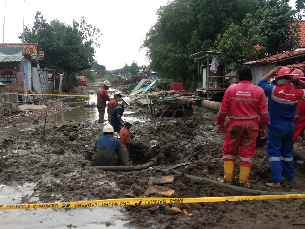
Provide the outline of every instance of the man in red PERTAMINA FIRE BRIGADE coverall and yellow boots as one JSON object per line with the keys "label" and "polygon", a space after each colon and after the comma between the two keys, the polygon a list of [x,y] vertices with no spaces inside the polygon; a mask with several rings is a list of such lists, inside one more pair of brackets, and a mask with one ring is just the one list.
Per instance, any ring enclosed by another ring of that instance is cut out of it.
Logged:
{"label": "man in red PERTAMINA FIRE BRIGADE coverall and yellow boots", "polygon": [[[218,132],[224,133],[224,145],[222,147],[224,161],[224,175],[227,184],[232,183],[234,162],[240,148],[239,183],[244,187],[250,187],[247,183],[252,157],[255,152],[256,138],[261,122],[261,139],[267,136],[268,112],[265,94],[262,88],[251,83],[252,72],[249,67],[241,67],[237,70],[239,83],[231,85],[222,99],[221,107],[217,115]],[[229,122],[224,127],[226,116]]]}

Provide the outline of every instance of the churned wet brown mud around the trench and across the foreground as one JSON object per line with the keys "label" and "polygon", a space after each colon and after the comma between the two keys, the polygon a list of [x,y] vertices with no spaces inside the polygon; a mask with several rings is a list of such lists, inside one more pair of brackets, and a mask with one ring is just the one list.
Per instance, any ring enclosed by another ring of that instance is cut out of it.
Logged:
{"label": "churned wet brown mud around the trench and across the foreground", "polygon": [[[222,177],[223,136],[217,133],[217,127],[213,125],[216,113],[203,108],[194,108],[194,116],[190,118],[164,118],[164,122],[159,118],[155,124],[144,120],[148,114],[147,109],[136,105],[126,109],[135,113],[128,112],[130,114],[124,115],[124,118],[139,119],[139,122],[131,128],[131,133],[140,142],[140,147],[132,149],[131,152],[134,164],[146,163],[152,157],[149,141],[155,139],[160,142],[161,149],[166,155],[167,163],[164,167],[191,161],[192,164],[179,167],[177,170],[213,180]],[[32,120],[28,121],[32,122]],[[41,119],[39,121],[42,123]],[[6,123],[2,127],[12,124]],[[79,140],[76,144],[68,136],[73,132],[70,128],[73,125],[77,125],[79,129]],[[102,135],[103,125],[94,120],[70,122],[54,133],[51,132],[56,126],[48,126],[45,139],[41,138],[43,132],[41,125],[36,129],[6,136],[0,143],[1,193],[5,192],[5,189],[6,192],[11,192],[9,188],[30,187],[30,191],[19,194],[20,198],[6,193],[5,196],[9,196],[13,203],[125,198],[126,193],[145,190],[148,187],[149,176],[174,175],[172,171],[163,172],[155,169],[122,173],[103,172],[92,167],[89,161],[84,160],[82,151],[94,147],[95,140]],[[271,178],[271,171],[266,147],[261,142],[258,145],[260,148],[257,148],[253,158],[254,165],[249,177],[252,189],[277,192],[305,191],[304,164],[295,164],[294,182],[284,181],[279,189],[265,187],[264,184]],[[302,141],[295,144],[296,160],[305,160],[304,148],[305,144]],[[238,162],[235,165],[233,185],[238,186]],[[172,197],[178,198],[250,195],[202,180],[189,179],[183,174],[174,175],[174,183],[165,184],[163,187],[175,190]],[[0,204],[11,203],[2,202],[8,199],[1,198],[1,195],[0,200]],[[193,215],[173,214],[168,208],[173,206],[185,208]],[[302,224],[293,228],[303,228],[305,224],[303,199],[107,208],[109,207],[32,209],[28,214],[33,216],[33,224],[29,224],[29,227],[36,224],[36,228],[86,228],[86,226],[95,228],[92,225],[96,228],[106,228],[106,226],[121,228],[124,224],[125,227],[131,228],[291,228],[295,224]],[[22,215],[27,211],[29,210],[1,210],[1,217],[9,227],[23,228],[27,224],[18,224],[18,218],[22,220]],[[34,216],[36,213],[37,215]],[[47,217],[49,214],[53,216]]]}

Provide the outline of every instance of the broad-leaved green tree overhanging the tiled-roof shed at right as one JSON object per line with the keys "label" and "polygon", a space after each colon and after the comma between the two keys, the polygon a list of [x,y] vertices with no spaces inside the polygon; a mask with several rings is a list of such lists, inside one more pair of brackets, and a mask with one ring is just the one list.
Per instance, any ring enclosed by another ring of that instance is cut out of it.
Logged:
{"label": "broad-leaved green tree overhanging the tiled-roof shed at right", "polygon": [[258,6],[260,8],[254,14],[246,15],[241,25],[231,24],[223,35],[218,35],[215,44],[217,51],[223,52],[221,63],[230,63],[226,53],[234,55],[235,68],[238,68],[245,61],[293,50],[298,46],[299,26],[293,23],[296,11],[287,1],[259,1]]}

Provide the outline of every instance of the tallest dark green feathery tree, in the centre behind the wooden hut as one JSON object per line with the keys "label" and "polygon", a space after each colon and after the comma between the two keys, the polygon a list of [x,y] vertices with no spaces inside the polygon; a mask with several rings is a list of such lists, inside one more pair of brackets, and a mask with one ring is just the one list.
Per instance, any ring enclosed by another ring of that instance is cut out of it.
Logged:
{"label": "tallest dark green feathery tree, in the centre behind the wooden hut", "polygon": [[194,74],[191,54],[215,49],[214,40],[232,23],[239,24],[256,9],[257,0],[175,0],[157,10],[158,20],[141,49],[150,68],[163,77],[180,80]]}

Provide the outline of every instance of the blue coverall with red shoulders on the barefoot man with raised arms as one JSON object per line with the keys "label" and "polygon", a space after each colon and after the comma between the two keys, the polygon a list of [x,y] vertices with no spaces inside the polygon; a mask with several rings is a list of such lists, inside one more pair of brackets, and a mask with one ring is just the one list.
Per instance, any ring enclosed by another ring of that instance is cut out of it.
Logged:
{"label": "blue coverall with red shoulders on the barefoot man with raised arms", "polygon": [[[304,89],[292,89],[289,82],[274,86],[266,80],[258,84],[268,97],[270,125],[267,127],[267,155],[271,167],[272,182],[282,182],[282,177],[293,180],[293,117],[296,105],[304,98]],[[282,168],[281,168],[282,166]]]}

